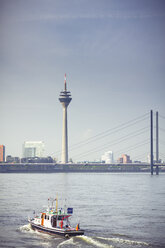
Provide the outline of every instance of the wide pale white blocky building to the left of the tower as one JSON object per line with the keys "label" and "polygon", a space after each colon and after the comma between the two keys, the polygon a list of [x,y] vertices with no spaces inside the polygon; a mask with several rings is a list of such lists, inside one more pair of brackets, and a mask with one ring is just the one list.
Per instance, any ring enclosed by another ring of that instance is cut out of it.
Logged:
{"label": "wide pale white blocky building to the left of the tower", "polygon": [[45,144],[43,141],[25,141],[23,158],[43,157]]}

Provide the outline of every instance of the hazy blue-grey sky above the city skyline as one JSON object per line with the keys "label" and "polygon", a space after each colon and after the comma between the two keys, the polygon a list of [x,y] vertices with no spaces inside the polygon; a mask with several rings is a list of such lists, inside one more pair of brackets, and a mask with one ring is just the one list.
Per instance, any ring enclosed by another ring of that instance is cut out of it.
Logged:
{"label": "hazy blue-grey sky above the city skyline", "polygon": [[66,73],[69,158],[97,161],[110,150],[115,159],[127,153],[146,160],[153,109],[154,123],[155,112],[161,116],[165,160],[164,27],[164,0],[0,0],[0,144],[6,155],[21,157],[24,141],[41,140],[45,156],[60,160],[58,98]]}

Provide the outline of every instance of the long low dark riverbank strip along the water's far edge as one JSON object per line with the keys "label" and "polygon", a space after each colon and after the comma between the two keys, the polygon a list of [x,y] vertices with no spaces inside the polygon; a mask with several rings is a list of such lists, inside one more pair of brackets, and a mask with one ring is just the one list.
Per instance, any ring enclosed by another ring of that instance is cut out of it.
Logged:
{"label": "long low dark riverbank strip along the water's far edge", "polygon": [[[165,165],[159,165],[165,171]],[[60,172],[150,172],[150,164],[56,164],[56,163],[19,163],[0,164],[0,173],[60,173]]]}

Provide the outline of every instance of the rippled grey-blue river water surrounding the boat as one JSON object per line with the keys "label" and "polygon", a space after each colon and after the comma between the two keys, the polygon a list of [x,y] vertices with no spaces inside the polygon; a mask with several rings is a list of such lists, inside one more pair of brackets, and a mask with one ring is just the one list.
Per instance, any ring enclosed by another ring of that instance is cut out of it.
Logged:
{"label": "rippled grey-blue river water surrounding the boat", "polygon": [[[28,217],[58,195],[73,207],[65,240],[31,230]],[[0,174],[0,247],[165,247],[165,174]]]}

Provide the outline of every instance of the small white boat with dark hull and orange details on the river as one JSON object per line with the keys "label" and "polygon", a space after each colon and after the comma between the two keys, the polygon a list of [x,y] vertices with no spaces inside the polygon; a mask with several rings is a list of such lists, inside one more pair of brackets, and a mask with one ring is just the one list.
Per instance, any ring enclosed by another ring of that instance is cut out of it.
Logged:
{"label": "small white boat with dark hull and orange details on the river", "polygon": [[[56,203],[56,206],[55,206]],[[35,214],[35,213],[34,213]],[[48,207],[33,218],[29,218],[30,226],[39,232],[60,235],[64,238],[84,234],[78,223],[75,228],[71,227],[69,218],[73,214],[73,208],[58,208],[58,199],[48,199]]]}

